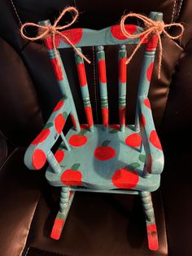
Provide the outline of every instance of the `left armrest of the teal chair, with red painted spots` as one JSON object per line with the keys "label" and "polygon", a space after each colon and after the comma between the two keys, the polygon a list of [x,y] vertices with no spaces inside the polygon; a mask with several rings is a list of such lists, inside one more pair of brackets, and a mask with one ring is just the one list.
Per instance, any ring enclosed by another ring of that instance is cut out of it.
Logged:
{"label": "left armrest of the teal chair, with red painted spots", "polygon": [[28,146],[24,155],[24,164],[31,170],[39,170],[46,163],[47,154],[63,130],[70,113],[68,99],[61,99],[46,122],[46,126]]}

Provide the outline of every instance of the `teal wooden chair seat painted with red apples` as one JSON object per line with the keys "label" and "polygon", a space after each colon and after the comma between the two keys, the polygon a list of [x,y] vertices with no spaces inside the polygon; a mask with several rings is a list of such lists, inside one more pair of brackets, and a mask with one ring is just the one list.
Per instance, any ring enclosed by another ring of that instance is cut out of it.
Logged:
{"label": "teal wooden chair seat painted with red apples", "polygon": [[46,179],[53,186],[83,186],[97,190],[116,188],[155,191],[159,188],[160,175],[142,177],[145,151],[141,136],[126,126],[124,132],[118,125],[105,128],[95,125],[94,131],[81,125],[66,135],[71,150],[63,143],[55,152],[62,172],[55,174],[50,167]]}

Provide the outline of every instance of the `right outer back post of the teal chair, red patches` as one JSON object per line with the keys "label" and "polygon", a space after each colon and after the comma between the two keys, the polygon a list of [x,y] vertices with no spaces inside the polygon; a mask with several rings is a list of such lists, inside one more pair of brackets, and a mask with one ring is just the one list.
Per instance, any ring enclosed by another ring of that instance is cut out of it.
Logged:
{"label": "right outer back post of the teal chair, red patches", "polygon": [[[161,12],[150,12],[151,20],[160,21],[163,20],[163,13]],[[139,108],[138,108],[138,98],[143,96],[147,98],[150,84],[151,84],[151,75],[153,72],[154,60],[155,60],[155,51],[158,44],[158,36],[154,34],[149,41],[146,43],[146,51],[144,54],[144,60],[142,63],[142,70],[140,75],[140,81],[138,86],[138,93],[137,93],[137,107],[136,107],[136,115],[135,115],[135,130],[139,131]]]}

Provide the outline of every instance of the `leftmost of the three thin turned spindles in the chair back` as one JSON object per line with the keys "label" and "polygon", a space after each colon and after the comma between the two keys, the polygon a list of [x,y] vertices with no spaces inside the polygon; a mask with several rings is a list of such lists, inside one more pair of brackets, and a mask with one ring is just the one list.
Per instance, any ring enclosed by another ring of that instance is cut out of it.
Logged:
{"label": "leftmost of the three thin turned spindles in the chair back", "polygon": [[[78,47],[78,50],[81,51],[81,48]],[[92,108],[90,104],[90,99],[89,99],[89,89],[87,85],[87,78],[86,78],[86,73],[85,73],[85,64],[83,58],[81,58],[80,55],[78,55],[75,51],[75,59],[76,59],[76,68],[77,68],[77,73],[79,77],[79,82],[81,86],[81,95],[83,99],[83,104],[85,108],[85,115],[87,119],[87,123],[89,126],[89,130],[94,130],[94,119],[93,119],[93,113],[92,113]]]}

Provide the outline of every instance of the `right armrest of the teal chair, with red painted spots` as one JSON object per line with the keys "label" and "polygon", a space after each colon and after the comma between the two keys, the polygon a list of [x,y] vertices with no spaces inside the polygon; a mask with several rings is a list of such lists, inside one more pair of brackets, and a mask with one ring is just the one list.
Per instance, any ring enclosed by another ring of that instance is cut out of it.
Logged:
{"label": "right armrest of the teal chair, with red painted spots", "polygon": [[142,143],[146,152],[144,175],[160,174],[164,169],[164,152],[155,130],[148,98],[139,97],[139,116]]}

